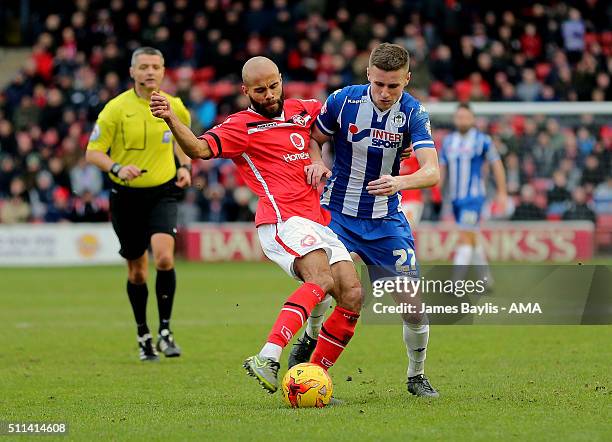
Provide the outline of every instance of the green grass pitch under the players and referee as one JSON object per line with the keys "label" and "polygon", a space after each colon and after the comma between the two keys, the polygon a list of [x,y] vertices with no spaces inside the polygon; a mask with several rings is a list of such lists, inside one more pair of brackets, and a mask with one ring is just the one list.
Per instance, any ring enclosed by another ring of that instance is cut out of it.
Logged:
{"label": "green grass pitch under the players and referee", "polygon": [[331,371],[346,404],[292,410],[241,364],[296,283],[270,263],[179,263],[178,281],[184,355],[143,364],[123,268],[0,269],[0,420],[78,440],[612,440],[611,326],[433,326],[442,397],[423,400],[400,328],[361,325]]}

